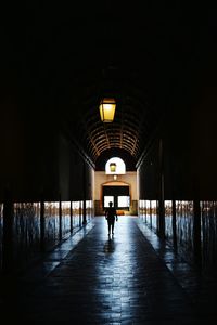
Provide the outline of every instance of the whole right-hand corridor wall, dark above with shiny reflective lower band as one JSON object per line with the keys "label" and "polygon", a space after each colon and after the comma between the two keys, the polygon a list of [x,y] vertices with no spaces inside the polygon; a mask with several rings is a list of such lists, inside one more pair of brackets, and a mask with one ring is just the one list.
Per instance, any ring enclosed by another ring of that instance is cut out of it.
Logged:
{"label": "whole right-hand corridor wall, dark above with shiny reflective lower band", "polygon": [[[140,216],[203,272],[216,273],[217,88],[177,104],[139,167]],[[179,113],[179,114],[178,114]],[[164,210],[159,212],[159,139],[163,141]],[[152,204],[157,206],[152,211]],[[162,227],[159,226],[159,221]],[[165,229],[164,229],[165,225]],[[162,235],[163,234],[163,235]]]}

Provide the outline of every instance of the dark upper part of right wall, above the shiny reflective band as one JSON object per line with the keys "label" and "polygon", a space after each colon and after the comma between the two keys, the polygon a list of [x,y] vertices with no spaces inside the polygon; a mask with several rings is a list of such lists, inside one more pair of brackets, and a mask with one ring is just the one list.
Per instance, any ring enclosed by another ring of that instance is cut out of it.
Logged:
{"label": "dark upper part of right wall, above the shiny reflective band", "polygon": [[165,199],[216,200],[217,96],[201,99],[191,107],[170,113],[158,139],[139,167],[139,196],[157,199],[159,190],[159,138],[163,140]]}

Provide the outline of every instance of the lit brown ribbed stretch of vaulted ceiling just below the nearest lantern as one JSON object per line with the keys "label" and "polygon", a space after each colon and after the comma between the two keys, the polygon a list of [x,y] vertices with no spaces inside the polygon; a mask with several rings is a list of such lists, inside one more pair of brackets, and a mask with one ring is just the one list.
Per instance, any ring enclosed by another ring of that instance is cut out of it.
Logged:
{"label": "lit brown ribbed stretch of vaulted ceiling just below the nearest lantern", "polygon": [[149,110],[142,112],[135,106],[117,103],[115,119],[112,123],[102,123],[99,112],[87,114],[82,122],[80,139],[88,154],[95,159],[106,150],[127,151],[136,159],[148,141],[151,128],[154,128],[153,116]]}

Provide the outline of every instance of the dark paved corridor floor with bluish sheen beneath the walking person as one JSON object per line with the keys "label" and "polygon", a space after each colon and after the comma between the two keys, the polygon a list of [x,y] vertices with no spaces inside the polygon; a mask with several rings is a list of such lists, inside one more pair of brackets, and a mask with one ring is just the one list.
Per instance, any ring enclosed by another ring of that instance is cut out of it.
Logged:
{"label": "dark paved corridor floor with bluish sheen beneath the walking person", "polygon": [[136,217],[115,235],[97,217],[40,264],[10,280],[4,324],[216,324],[216,283],[202,278]]}

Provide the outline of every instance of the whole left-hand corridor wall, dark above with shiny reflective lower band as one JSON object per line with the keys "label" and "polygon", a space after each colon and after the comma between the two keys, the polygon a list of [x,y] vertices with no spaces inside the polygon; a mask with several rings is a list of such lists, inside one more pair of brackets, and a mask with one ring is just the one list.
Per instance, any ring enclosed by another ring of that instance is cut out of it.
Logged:
{"label": "whole left-hand corridor wall, dark above with shiny reflective lower band", "polygon": [[26,268],[90,221],[93,168],[49,112],[26,115],[12,101],[0,108],[1,275]]}

